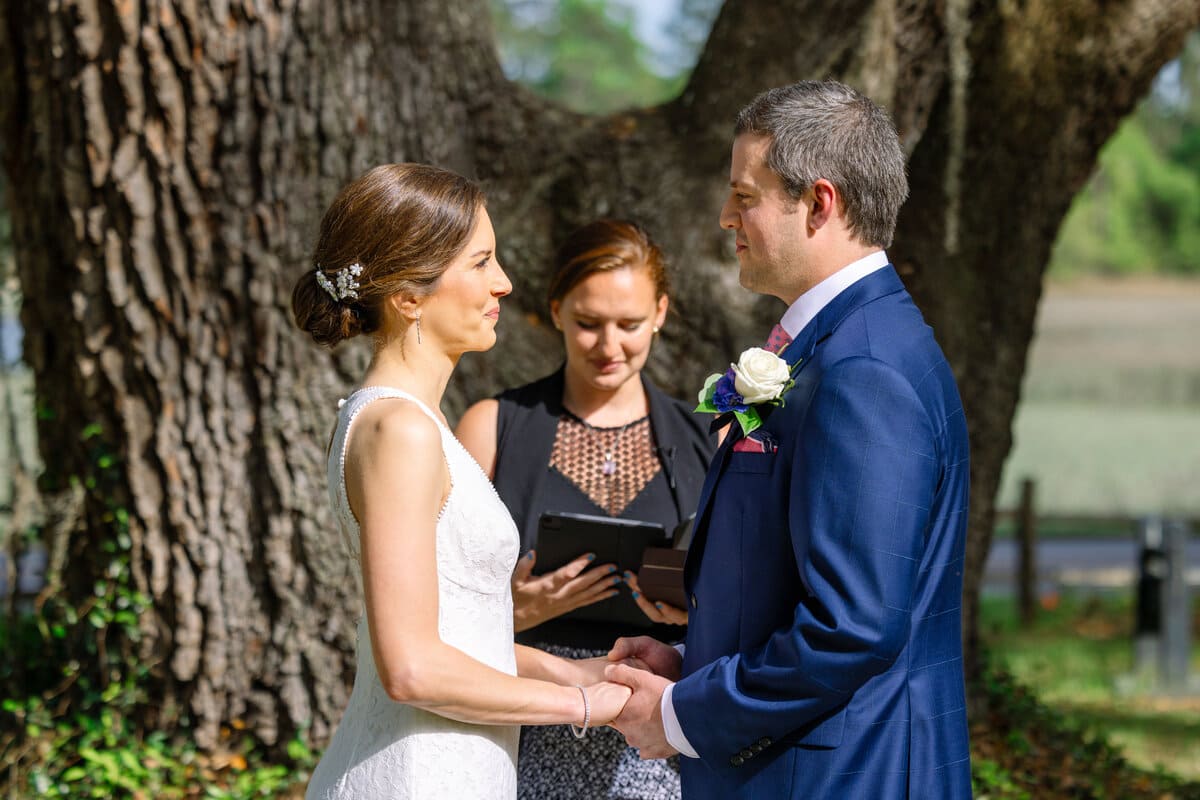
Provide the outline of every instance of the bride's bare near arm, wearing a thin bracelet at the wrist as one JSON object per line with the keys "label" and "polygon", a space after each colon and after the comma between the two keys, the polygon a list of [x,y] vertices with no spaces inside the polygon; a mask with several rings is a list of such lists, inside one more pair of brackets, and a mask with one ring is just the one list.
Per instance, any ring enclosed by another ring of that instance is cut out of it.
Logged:
{"label": "bride's bare near arm, wearing a thin bracelet at the wrist", "polygon": [[[347,449],[346,487],[361,531],[376,668],[392,699],[466,722],[583,721],[572,685],[508,675],[438,636],[436,525],[450,476],[432,420],[410,403],[364,409]],[[629,696],[613,684],[587,691],[594,724],[611,721]]]}

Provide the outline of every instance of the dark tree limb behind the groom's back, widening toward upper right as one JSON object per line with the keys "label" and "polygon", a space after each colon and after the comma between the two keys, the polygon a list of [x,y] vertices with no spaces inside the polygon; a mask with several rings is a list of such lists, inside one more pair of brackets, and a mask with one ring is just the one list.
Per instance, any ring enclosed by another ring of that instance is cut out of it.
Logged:
{"label": "dark tree limb behind the groom's back, widening toward upper right", "polygon": [[971,433],[964,634],[973,674],[995,497],[1051,246],[1100,146],[1200,25],[1200,4],[955,0],[948,12],[959,43],[908,161],[912,194],[892,257],[954,366]]}

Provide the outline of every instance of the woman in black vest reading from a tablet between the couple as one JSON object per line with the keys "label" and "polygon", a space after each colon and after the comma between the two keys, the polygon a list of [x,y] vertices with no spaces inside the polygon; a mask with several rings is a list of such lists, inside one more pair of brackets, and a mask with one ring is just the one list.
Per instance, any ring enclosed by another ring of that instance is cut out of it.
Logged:
{"label": "woman in black vest reading from a tablet between the couple", "polygon": [[[637,224],[599,219],[559,247],[548,289],[565,362],[532,384],[472,405],[456,434],[496,485],[521,533],[514,575],[517,640],[568,657],[605,655],[620,636],[677,640],[688,614],[648,599],[632,572],[582,549],[538,569],[538,525],[558,511],[676,530],[696,507],[716,445],[710,417],[662,393],[642,373],[668,308],[659,247]],[[572,619],[570,612],[629,591],[641,624]],[[576,740],[551,728],[522,732],[522,800],[679,796],[678,764],[642,762],[612,728]]]}

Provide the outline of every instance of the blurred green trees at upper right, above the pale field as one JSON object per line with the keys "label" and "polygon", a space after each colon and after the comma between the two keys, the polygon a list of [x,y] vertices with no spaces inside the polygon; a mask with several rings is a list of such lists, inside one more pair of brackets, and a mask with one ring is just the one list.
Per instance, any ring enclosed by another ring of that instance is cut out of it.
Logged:
{"label": "blurred green trees at upper right, above the pale field", "polygon": [[1104,146],[1050,273],[1200,276],[1200,32]]}

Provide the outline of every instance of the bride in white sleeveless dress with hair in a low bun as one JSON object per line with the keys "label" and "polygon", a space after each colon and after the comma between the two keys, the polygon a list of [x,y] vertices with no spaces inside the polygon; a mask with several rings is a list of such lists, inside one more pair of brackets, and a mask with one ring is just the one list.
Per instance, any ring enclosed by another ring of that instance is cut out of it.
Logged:
{"label": "bride in white sleeveless dress with hair in a low bun", "polygon": [[629,697],[605,658],[514,645],[516,527],[439,404],[458,357],[496,343],[511,284],[480,190],[420,164],[377,167],[325,212],[296,324],[320,344],[370,335],[342,403],[330,501],[361,565],[358,674],[310,799],[516,796],[518,724],[611,722]]}

